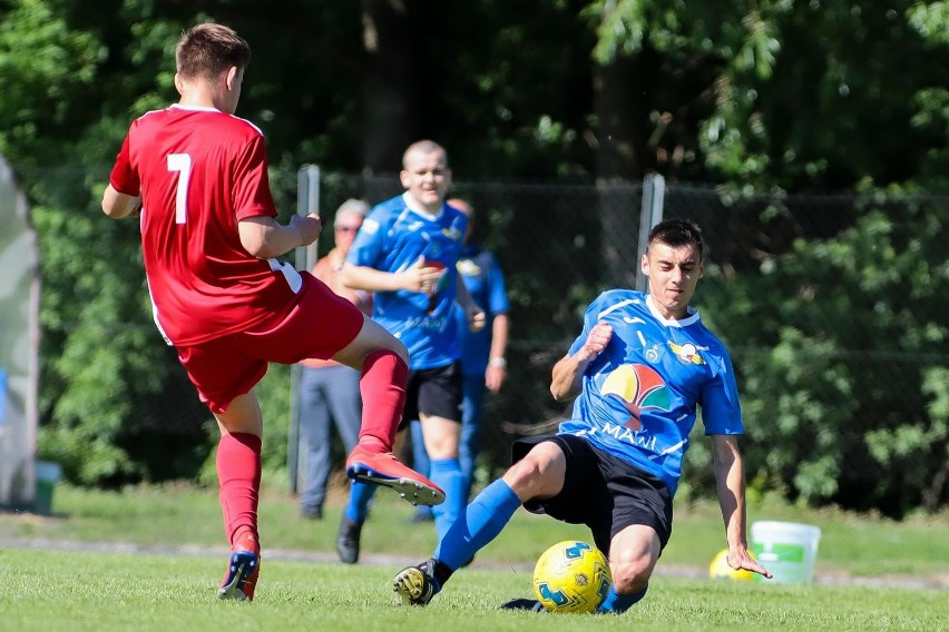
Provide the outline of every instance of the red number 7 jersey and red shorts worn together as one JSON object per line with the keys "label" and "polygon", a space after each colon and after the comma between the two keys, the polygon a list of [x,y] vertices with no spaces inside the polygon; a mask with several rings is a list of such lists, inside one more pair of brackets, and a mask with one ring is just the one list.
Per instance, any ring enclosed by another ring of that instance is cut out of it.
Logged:
{"label": "red number 7 jersey and red shorts worn together", "polygon": [[141,196],[155,323],[213,412],[268,362],[331,357],[362,328],[362,313],[310,273],[241,244],[238,220],[277,215],[253,124],[213,108],[148,112],[131,124],[109,182]]}

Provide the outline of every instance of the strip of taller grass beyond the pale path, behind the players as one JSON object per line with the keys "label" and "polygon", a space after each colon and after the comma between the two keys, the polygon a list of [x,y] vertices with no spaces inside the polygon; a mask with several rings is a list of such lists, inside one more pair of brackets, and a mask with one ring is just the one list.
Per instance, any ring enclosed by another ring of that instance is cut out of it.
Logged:
{"label": "strip of taller grass beyond the pale path, behind the players", "polygon": [[[335,488],[321,522],[297,517],[294,498],[280,481],[262,494],[261,540],[265,550],[333,554],[344,496]],[[363,531],[365,555],[409,560],[428,556],[434,546],[430,524],[407,526],[412,507],[391,493],[376,495]],[[668,567],[702,569],[725,545],[715,503],[676,505],[675,527],[657,572]],[[223,547],[224,530],[213,488],[187,485],[138,486],[124,492],[86,491],[60,484],[53,516],[0,513],[0,542],[57,540],[121,542],[141,547]],[[762,502],[749,510],[749,523],[782,520],[822,530],[816,571],[828,576],[873,577],[904,574],[949,576],[949,514],[900,523],[835,511],[804,511]],[[567,525],[519,511],[501,535],[478,556],[481,562],[532,564],[547,545],[567,537],[588,540],[584,526]]]}

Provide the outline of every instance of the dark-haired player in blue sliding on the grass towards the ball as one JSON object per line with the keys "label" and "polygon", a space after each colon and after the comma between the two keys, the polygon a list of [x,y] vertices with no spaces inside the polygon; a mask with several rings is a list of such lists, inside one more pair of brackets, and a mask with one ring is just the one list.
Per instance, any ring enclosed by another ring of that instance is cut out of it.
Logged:
{"label": "dark-haired player in blue sliding on the grass towards the ball", "polygon": [[[627,610],[646,594],[672,534],[672,500],[697,407],[712,440],[728,565],[772,576],[747,549],[732,362],[688,307],[704,270],[699,228],[682,219],[656,225],[640,266],[648,293],[598,296],[569,353],[554,366],[550,393],[557,401],[576,397],[571,418],[556,435],[513,444],[513,465],[466,507],[434,555],[395,575],[393,589],[404,603],[429,603],[524,505],[589,526],[613,573],[599,612]],[[502,608],[542,610],[529,599]]]}

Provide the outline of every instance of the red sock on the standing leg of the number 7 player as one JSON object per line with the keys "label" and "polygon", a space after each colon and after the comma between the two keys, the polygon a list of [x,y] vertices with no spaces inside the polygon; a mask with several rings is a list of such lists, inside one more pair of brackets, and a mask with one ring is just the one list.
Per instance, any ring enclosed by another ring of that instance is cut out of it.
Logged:
{"label": "red sock on the standing leg of the number 7 player", "polygon": [[261,437],[250,433],[222,434],[217,443],[217,478],[227,540],[233,545],[241,533],[250,531],[260,542]]}

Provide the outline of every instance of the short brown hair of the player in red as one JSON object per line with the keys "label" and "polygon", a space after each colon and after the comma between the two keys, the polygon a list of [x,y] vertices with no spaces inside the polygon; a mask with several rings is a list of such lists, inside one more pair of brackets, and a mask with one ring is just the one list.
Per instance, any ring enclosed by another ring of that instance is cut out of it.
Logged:
{"label": "short brown hair of the player in red", "polygon": [[251,63],[251,46],[234,29],[205,23],[182,34],[175,48],[175,68],[185,79],[214,80],[228,68],[244,70]]}

